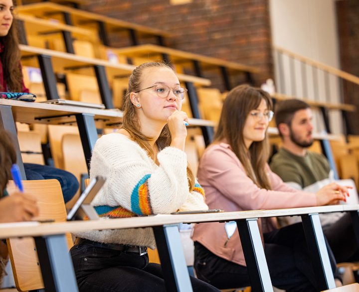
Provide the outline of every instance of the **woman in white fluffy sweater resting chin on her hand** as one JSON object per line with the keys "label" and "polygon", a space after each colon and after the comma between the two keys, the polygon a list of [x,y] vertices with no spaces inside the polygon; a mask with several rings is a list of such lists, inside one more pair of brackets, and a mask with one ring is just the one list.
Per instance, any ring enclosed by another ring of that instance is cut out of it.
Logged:
{"label": "woman in white fluffy sweater resting chin on her hand", "polygon": [[[107,177],[92,204],[104,219],[207,209],[187,165],[186,90],[164,63],[138,66],[129,78],[121,128],[97,140],[90,178]],[[166,291],[161,266],[149,263],[152,228],[76,234],[71,249],[80,291]],[[218,291],[191,278],[193,291]]]}

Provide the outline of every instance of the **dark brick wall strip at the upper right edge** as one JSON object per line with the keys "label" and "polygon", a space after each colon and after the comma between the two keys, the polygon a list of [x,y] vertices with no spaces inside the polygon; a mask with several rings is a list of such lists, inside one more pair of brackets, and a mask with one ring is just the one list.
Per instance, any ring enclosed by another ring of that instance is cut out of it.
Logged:
{"label": "dark brick wall strip at the upper right edge", "polygon": [[[338,34],[342,70],[359,76],[359,1],[337,1]],[[359,135],[359,85],[344,82],[344,101],[357,106],[350,114],[352,133]]]}

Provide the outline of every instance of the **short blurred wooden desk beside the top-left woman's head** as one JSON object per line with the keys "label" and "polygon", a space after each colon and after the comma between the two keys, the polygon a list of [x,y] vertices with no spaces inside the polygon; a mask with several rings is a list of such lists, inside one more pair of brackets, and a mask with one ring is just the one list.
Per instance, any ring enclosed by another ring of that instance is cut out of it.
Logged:
{"label": "short blurred wooden desk beside the top-left woman's head", "polygon": [[28,35],[43,35],[54,31],[69,31],[73,37],[98,41],[97,32],[93,29],[63,24],[57,21],[42,19],[28,14],[16,14],[15,18],[22,20]]}

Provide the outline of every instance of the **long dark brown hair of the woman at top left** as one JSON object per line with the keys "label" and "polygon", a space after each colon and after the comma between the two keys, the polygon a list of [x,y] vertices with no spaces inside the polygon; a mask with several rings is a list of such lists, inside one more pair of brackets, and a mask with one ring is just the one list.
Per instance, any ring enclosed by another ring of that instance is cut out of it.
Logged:
{"label": "long dark brown hair of the woman at top left", "polygon": [[21,92],[23,77],[15,18],[12,19],[7,35],[0,37],[0,44],[3,46],[3,51],[0,54],[3,78],[7,85],[7,88],[2,88],[0,84],[0,88],[2,91]]}

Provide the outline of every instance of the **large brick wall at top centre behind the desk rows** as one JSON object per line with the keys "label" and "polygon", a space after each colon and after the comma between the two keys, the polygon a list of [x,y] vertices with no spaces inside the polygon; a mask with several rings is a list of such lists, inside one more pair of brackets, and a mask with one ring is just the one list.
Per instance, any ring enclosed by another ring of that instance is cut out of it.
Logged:
{"label": "large brick wall at top centre behind the desk rows", "polygon": [[[256,66],[261,69],[254,76],[256,85],[273,78],[268,0],[193,0],[181,5],[171,5],[170,0],[93,0],[81,7],[170,31],[170,47]],[[112,34],[111,45],[130,45],[123,36]],[[218,72],[204,77],[222,86]],[[233,76],[232,84],[243,80]]]}

